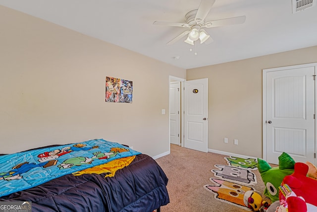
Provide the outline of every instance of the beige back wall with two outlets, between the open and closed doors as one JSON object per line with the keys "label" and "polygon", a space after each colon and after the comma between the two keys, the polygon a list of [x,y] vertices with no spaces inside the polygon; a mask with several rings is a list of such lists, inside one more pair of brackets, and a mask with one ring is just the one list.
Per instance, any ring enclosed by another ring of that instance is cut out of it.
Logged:
{"label": "beige back wall with two outlets, between the open and closed doors", "polygon": [[316,56],[317,46],[187,70],[187,80],[209,79],[208,147],[262,157],[262,70],[316,63]]}

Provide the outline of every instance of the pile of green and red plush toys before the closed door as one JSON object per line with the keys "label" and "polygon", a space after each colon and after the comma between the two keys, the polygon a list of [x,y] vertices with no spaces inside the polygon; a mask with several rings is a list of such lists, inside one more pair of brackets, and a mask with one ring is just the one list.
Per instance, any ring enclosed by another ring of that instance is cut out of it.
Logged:
{"label": "pile of green and red plush toys before the closed door", "polygon": [[266,212],[317,212],[316,166],[310,162],[295,162],[285,152],[278,159],[279,166],[272,168],[258,158],[264,195],[272,201]]}

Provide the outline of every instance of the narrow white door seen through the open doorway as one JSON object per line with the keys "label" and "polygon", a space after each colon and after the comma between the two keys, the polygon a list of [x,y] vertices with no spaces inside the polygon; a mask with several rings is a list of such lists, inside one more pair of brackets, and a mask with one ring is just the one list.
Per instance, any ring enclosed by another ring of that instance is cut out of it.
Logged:
{"label": "narrow white door seen through the open doorway", "polygon": [[169,89],[170,143],[180,145],[180,82],[170,82]]}

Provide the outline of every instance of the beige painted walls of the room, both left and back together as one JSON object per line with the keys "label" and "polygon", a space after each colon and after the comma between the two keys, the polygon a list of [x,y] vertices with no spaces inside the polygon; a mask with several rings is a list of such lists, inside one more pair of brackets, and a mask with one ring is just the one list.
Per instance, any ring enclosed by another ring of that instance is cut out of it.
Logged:
{"label": "beige painted walls of the room, both left and back together", "polygon": [[[185,70],[3,6],[0,27],[0,153],[96,138],[168,151],[168,76]],[[317,46],[187,70],[188,80],[209,78],[209,148],[261,157],[262,70],[316,55]],[[133,81],[132,104],[105,102],[106,76]]]}

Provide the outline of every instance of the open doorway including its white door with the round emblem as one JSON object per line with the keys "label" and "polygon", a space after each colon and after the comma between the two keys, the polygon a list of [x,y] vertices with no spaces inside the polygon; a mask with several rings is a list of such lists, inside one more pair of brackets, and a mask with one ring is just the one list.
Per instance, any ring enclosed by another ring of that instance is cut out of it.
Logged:
{"label": "open doorway including its white door with the round emblem", "polygon": [[169,76],[169,144],[208,152],[207,78]]}

